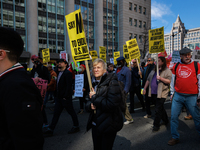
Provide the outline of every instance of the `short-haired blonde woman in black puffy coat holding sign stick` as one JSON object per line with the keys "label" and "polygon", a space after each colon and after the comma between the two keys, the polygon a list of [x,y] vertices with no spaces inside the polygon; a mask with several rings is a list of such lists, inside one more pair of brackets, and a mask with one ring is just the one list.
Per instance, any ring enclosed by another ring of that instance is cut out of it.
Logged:
{"label": "short-haired blonde woman in black puffy coat holding sign stick", "polygon": [[95,150],[111,150],[116,134],[123,127],[120,109],[121,89],[115,74],[106,73],[106,63],[102,59],[93,62],[95,82],[90,92],[86,109],[91,111],[87,131],[92,128]]}

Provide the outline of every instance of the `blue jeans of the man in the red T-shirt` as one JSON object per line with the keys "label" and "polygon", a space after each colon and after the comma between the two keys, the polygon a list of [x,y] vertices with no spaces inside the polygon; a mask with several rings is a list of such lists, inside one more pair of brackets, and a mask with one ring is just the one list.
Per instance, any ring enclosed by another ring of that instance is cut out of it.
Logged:
{"label": "blue jeans of the man in the red T-shirt", "polygon": [[180,136],[178,133],[178,117],[184,104],[192,115],[196,130],[200,135],[200,112],[197,106],[197,94],[181,94],[175,92],[171,108],[171,135],[174,139],[179,139]]}

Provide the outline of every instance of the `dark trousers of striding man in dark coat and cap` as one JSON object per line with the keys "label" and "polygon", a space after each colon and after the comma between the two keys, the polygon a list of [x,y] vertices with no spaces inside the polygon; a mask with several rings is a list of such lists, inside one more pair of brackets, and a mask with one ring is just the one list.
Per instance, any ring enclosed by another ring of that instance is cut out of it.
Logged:
{"label": "dark trousers of striding man in dark coat and cap", "polygon": [[55,100],[55,109],[54,109],[53,119],[49,128],[52,130],[55,129],[56,124],[59,120],[60,114],[62,113],[64,108],[67,110],[67,112],[71,116],[73,125],[78,127],[79,126],[78,117],[75,113],[75,110],[72,104],[72,99],[71,98],[67,100],[64,100],[61,98],[55,98],[55,99],[56,100]]}

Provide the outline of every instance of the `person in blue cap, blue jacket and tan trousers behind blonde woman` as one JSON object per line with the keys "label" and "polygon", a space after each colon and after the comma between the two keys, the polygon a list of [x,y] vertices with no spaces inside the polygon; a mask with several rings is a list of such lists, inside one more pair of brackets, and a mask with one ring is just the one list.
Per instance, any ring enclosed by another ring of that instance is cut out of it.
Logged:
{"label": "person in blue cap, blue jacket and tan trousers behind blonde woman", "polygon": [[[128,69],[128,67],[125,66],[125,58],[123,56],[117,58],[117,66],[118,68],[116,70],[116,74],[117,74],[118,80],[123,82],[124,84],[124,91],[126,93],[126,99],[127,99],[128,92],[131,86],[131,72]],[[126,122],[124,122],[124,124],[133,123],[133,118],[128,110],[127,105],[126,105],[126,111],[124,112],[124,116],[126,119]]]}

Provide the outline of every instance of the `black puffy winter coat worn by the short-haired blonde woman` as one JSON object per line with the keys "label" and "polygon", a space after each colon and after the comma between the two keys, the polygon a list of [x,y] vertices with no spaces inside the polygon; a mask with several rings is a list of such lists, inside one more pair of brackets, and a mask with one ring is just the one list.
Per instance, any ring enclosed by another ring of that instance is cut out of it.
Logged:
{"label": "black puffy winter coat worn by the short-haired blonde woman", "polygon": [[[97,85],[96,94],[87,102],[86,109],[91,111],[87,131],[96,123],[97,134],[113,133],[123,127],[123,116],[120,110],[121,89],[116,75],[105,74]],[[91,103],[96,106],[96,114],[91,110]]]}

